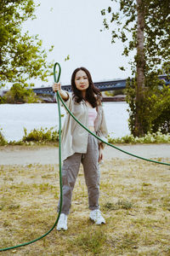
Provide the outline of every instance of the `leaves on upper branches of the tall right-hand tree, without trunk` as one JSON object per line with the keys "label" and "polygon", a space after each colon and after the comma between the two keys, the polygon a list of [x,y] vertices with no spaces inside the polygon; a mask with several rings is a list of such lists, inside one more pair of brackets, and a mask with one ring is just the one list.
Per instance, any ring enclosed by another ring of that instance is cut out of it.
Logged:
{"label": "leaves on upper branches of the tall right-hand tree, without trunk", "polygon": [[[116,39],[120,39],[124,45],[122,55],[128,56],[130,51],[137,49],[137,0],[111,0],[117,3],[118,10],[110,6],[103,9],[101,15],[105,16],[103,21],[104,27],[111,30],[111,43],[116,43]],[[170,64],[170,17],[169,0],[143,0],[140,11],[144,15],[144,56],[145,56],[145,72],[153,71],[157,73],[160,66],[166,67]],[[112,27],[113,26],[113,27]],[[136,73],[137,55],[131,60],[133,74]],[[160,66],[159,66],[160,65]],[[120,67],[122,70],[125,67]],[[169,70],[169,66],[167,67]]]}

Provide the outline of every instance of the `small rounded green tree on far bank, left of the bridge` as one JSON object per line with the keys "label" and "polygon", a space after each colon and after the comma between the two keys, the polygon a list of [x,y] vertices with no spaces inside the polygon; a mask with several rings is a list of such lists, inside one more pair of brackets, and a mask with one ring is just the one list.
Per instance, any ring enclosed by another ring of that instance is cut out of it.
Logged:
{"label": "small rounded green tree on far bank, left of the bridge", "polygon": [[10,90],[2,97],[2,103],[35,103],[41,102],[27,84],[15,83]]}

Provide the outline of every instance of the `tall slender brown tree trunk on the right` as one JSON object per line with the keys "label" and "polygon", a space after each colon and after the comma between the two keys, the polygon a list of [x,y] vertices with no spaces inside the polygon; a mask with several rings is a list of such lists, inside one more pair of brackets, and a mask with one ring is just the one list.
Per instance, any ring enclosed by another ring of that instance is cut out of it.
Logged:
{"label": "tall slender brown tree trunk on the right", "polygon": [[[137,88],[136,88],[136,116],[134,136],[144,136],[141,119],[144,99],[144,0],[137,0]],[[142,4],[143,3],[143,4]]]}

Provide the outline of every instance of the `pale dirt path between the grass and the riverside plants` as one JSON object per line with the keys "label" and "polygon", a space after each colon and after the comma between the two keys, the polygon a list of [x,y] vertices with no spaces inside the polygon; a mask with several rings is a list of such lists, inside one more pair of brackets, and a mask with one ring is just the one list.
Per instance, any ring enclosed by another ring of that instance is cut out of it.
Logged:
{"label": "pale dirt path between the grass and the riverside plants", "polygon": [[[138,144],[117,146],[132,154],[140,155],[144,158],[170,158],[169,144]],[[128,154],[106,146],[104,151],[105,160],[112,158],[129,159],[133,158]],[[0,147],[0,165],[26,165],[39,163],[58,164],[58,148],[49,146],[8,146]]]}

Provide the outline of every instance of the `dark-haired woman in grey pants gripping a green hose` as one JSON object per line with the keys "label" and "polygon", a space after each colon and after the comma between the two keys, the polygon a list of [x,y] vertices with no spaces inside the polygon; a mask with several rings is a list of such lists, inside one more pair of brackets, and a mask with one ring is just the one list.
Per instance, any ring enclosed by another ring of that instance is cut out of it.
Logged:
{"label": "dark-haired woman in grey pants gripping a green hose", "polygon": [[[101,106],[101,94],[94,87],[91,74],[85,67],[77,68],[71,77],[72,93],[61,90],[58,83],[53,90],[65,101],[77,119],[98,137],[107,137],[105,114]],[[103,160],[105,144],[88,133],[67,113],[61,135],[63,204],[57,230],[67,230],[67,215],[71,208],[71,195],[82,162],[88,187],[89,218],[95,224],[105,224],[99,211],[99,162]],[[59,211],[59,206],[58,206]]]}

